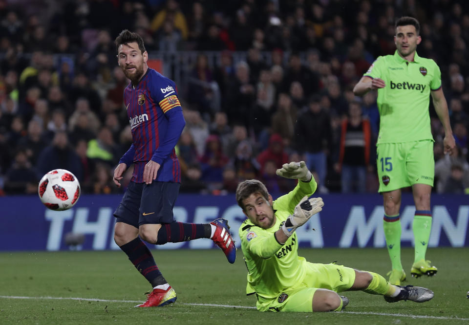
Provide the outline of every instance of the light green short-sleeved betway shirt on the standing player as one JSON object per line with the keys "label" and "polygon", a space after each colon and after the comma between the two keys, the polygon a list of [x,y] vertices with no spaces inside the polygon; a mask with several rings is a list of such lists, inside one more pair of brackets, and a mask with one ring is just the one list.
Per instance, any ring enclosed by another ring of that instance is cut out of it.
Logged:
{"label": "light green short-sleeved betway shirt on the standing player", "polygon": [[435,61],[415,52],[408,62],[397,52],[380,56],[363,75],[384,80],[378,89],[380,131],[377,144],[433,140],[428,104],[430,90],[441,87],[441,72]]}

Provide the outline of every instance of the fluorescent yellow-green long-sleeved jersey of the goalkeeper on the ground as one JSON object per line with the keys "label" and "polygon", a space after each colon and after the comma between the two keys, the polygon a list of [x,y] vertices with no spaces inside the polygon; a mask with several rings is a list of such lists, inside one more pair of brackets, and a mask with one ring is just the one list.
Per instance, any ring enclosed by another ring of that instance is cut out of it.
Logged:
{"label": "fluorescent yellow-green long-sleeved jersey of the goalkeeper on the ground", "polygon": [[302,266],[306,260],[298,257],[297,234],[294,233],[282,245],[274,233],[293,214],[303,196],[312,195],[316,188],[314,177],[310,182],[298,181],[293,191],[275,200],[273,209],[276,222],[271,228],[262,229],[249,219],[239,227],[241,249],[248,268],[248,295],[256,293],[265,299],[274,299],[303,279],[305,270]]}

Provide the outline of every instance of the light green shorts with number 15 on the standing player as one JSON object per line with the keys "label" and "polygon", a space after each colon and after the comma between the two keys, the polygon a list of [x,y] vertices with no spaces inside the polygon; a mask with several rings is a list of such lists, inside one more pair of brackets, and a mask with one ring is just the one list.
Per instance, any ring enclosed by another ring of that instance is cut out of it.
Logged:
{"label": "light green shorts with number 15 on the standing player", "polygon": [[376,146],[380,188],[390,192],[414,184],[433,186],[435,161],[433,141],[382,143]]}

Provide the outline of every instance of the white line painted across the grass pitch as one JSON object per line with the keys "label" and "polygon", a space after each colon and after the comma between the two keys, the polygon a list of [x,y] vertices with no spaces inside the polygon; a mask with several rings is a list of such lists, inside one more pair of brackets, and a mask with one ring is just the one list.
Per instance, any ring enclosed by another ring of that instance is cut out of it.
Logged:
{"label": "white line painted across the grass pitch", "polygon": [[[24,296],[0,296],[4,299],[50,299],[50,300],[84,300],[103,303],[141,303],[137,300],[109,300],[97,298],[76,298],[76,297],[24,297]],[[230,304],[215,304],[215,303],[179,303],[191,306],[210,306],[210,307],[224,307],[224,308],[245,308],[256,309],[253,306],[236,306]],[[376,315],[376,316],[393,316],[393,317],[408,317],[408,318],[423,318],[423,319],[440,319],[440,320],[454,320],[454,321],[469,321],[469,318],[446,317],[446,316],[425,316],[425,315],[410,315],[410,314],[391,314],[391,313],[374,313],[374,312],[359,312],[359,311],[341,311],[344,314],[356,315]]]}

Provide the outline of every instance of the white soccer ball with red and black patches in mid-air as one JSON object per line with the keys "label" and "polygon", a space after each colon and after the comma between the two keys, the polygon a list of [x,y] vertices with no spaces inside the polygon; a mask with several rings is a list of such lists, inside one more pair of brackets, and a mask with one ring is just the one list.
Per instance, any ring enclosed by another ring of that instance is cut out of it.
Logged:
{"label": "white soccer ball with red and black patches in mid-air", "polygon": [[80,183],[73,173],[54,169],[41,178],[38,193],[47,208],[63,211],[77,203],[80,197]]}

